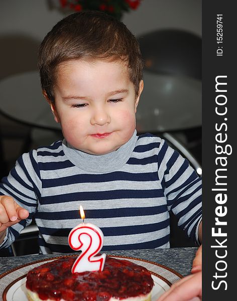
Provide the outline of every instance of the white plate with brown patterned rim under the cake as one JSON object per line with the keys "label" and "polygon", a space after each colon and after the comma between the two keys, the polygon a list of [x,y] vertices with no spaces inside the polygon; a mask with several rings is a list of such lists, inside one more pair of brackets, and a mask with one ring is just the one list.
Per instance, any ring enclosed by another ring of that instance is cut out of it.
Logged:
{"label": "white plate with brown patterned rim under the cake", "polygon": [[[157,298],[162,293],[167,291],[174,282],[180,280],[183,277],[175,270],[153,261],[126,256],[108,256],[117,259],[130,260],[134,263],[146,267],[151,272],[152,278],[154,280],[154,287],[152,289],[152,301],[156,301]],[[2,296],[3,301],[27,301],[26,276],[28,271],[43,263],[50,262],[62,257],[70,257],[70,255],[34,261],[16,267],[0,275],[0,296]]]}

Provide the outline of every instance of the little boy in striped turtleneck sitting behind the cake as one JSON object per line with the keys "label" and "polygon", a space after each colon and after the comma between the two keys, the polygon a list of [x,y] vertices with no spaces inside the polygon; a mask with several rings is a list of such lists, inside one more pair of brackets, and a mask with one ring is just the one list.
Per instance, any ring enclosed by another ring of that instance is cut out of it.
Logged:
{"label": "little boy in striped turtleneck sitting behind the cake", "polygon": [[79,205],[103,250],[169,247],[170,210],[199,243],[201,179],[164,140],[136,133],[142,66],[135,37],[102,13],[70,15],[48,33],[41,85],[65,139],[24,154],[3,179],[1,247],[34,217],[40,253],[71,252]]}

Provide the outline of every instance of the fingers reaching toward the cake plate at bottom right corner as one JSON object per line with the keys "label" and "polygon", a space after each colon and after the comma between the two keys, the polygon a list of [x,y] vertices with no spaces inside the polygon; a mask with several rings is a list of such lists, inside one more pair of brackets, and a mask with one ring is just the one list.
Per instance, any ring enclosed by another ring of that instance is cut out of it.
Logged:
{"label": "fingers reaching toward the cake plate at bottom right corner", "polygon": [[202,299],[202,272],[190,274],[174,283],[158,301],[199,301]]}

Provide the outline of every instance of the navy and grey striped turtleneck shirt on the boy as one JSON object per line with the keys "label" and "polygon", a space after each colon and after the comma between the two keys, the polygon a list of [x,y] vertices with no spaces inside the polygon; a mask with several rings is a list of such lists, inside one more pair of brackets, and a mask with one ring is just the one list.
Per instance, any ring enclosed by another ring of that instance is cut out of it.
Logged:
{"label": "navy and grey striped turtleneck shirt on the boy", "polygon": [[40,253],[72,252],[68,234],[81,223],[104,234],[102,250],[169,247],[169,211],[198,243],[201,178],[188,161],[152,134],[132,138],[115,152],[95,156],[65,140],[23,154],[0,185],[26,208],[26,220],[8,228],[8,247],[35,218]]}

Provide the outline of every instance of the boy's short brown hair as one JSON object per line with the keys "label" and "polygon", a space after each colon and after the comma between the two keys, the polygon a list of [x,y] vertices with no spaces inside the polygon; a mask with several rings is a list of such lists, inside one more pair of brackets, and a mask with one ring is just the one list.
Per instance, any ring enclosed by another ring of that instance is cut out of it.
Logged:
{"label": "boy's short brown hair", "polygon": [[122,22],[102,12],[85,11],[69,15],[52,28],[38,58],[41,86],[50,101],[54,101],[57,67],[77,59],[125,61],[138,96],[143,60],[137,39]]}

